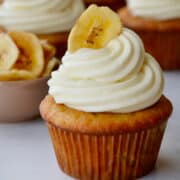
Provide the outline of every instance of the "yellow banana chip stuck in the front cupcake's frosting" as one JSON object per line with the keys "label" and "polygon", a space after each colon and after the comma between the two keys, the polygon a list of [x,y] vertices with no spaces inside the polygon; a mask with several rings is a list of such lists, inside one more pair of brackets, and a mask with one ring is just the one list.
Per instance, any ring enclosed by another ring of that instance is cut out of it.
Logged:
{"label": "yellow banana chip stuck in the front cupcake's frosting", "polygon": [[108,7],[91,5],[72,28],[68,38],[68,50],[103,48],[122,31],[119,16]]}

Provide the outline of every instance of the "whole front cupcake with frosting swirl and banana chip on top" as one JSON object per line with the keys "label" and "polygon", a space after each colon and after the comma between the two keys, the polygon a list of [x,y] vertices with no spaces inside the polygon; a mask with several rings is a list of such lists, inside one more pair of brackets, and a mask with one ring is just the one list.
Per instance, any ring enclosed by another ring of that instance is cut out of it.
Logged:
{"label": "whole front cupcake with frosting swirl and banana chip on top", "polygon": [[159,64],[116,13],[82,14],[48,84],[40,112],[65,173],[121,180],[154,168],[172,105]]}

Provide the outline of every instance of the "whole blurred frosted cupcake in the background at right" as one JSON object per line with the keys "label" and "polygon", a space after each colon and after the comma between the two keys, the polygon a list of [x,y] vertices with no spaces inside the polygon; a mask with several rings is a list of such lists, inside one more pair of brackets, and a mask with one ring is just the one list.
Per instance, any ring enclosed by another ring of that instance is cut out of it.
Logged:
{"label": "whole blurred frosted cupcake in the background at right", "polygon": [[124,25],[142,38],[165,70],[180,69],[180,1],[128,0],[119,10]]}

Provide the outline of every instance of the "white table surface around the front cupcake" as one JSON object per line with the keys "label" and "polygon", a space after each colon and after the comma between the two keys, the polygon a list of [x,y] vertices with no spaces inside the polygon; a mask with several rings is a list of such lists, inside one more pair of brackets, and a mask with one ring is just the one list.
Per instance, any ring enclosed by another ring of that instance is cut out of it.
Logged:
{"label": "white table surface around the front cupcake", "polygon": [[[142,180],[180,180],[180,72],[166,72],[165,80],[165,94],[172,100],[174,112],[157,167]],[[59,170],[41,119],[0,124],[0,180],[71,180]]]}

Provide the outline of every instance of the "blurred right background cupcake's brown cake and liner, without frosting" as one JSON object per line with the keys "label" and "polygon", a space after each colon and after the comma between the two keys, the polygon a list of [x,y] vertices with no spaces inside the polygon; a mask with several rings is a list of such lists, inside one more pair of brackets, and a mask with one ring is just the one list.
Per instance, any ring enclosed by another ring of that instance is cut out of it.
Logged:
{"label": "blurred right background cupcake's brown cake and liner, without frosting", "polygon": [[119,10],[124,25],[143,40],[145,49],[165,70],[180,69],[180,19],[156,21],[135,17],[127,7]]}

